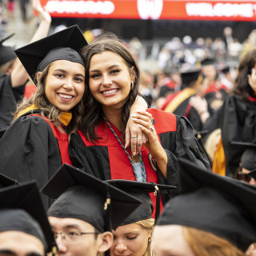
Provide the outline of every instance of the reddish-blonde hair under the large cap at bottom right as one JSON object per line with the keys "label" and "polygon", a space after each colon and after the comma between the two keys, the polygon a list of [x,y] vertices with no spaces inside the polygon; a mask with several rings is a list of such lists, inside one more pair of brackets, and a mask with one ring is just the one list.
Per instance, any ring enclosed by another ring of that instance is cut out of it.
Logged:
{"label": "reddish-blonde hair under the large cap at bottom right", "polygon": [[182,233],[194,256],[245,256],[226,239],[210,232],[182,226]]}

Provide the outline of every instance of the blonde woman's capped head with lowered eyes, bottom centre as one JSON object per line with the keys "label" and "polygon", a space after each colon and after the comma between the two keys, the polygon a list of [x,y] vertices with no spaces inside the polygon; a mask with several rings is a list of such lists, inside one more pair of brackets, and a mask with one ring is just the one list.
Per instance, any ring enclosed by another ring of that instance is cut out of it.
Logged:
{"label": "blonde woman's capped head with lowered eyes, bottom centre", "polygon": [[153,252],[150,250],[150,242],[154,227],[154,218],[152,218],[154,206],[150,198],[150,193],[155,193],[157,196],[155,217],[158,218],[160,210],[159,190],[173,189],[174,186],[120,179],[106,182],[142,201],[142,204],[116,230],[112,230],[114,241],[110,249],[110,255],[153,255]]}

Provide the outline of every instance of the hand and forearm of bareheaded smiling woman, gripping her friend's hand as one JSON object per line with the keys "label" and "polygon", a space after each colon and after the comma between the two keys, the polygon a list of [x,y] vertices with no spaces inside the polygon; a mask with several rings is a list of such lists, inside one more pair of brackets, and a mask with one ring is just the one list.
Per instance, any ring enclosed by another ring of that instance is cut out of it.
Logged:
{"label": "hand and forearm of bareheaded smiling woman, gripping her friend's hand", "polygon": [[158,139],[158,134],[154,129],[154,118],[152,114],[146,111],[137,111],[137,114],[133,114],[131,119],[137,123],[142,132],[146,134],[147,142],[145,146],[155,158],[162,174],[166,176],[167,156]]}

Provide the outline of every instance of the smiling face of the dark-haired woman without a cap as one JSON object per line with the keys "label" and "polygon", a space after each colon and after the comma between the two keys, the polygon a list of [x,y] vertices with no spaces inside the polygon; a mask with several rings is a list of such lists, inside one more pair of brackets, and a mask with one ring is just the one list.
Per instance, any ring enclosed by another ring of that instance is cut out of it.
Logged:
{"label": "smiling face of the dark-haired woman without a cap", "polygon": [[90,59],[89,86],[94,98],[108,109],[121,109],[126,103],[134,81],[133,68],[111,51],[94,54]]}

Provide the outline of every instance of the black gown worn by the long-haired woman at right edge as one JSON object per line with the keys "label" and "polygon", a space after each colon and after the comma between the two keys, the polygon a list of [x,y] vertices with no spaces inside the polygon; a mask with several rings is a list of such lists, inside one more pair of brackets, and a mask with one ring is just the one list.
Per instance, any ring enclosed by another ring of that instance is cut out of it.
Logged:
{"label": "black gown worn by the long-haired woman at right edge", "polygon": [[246,147],[256,146],[256,99],[246,102],[238,95],[227,97],[218,112],[206,121],[206,130],[218,128],[222,129],[226,175],[234,177]]}

